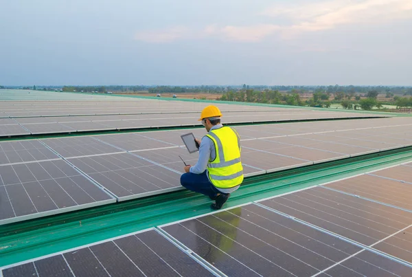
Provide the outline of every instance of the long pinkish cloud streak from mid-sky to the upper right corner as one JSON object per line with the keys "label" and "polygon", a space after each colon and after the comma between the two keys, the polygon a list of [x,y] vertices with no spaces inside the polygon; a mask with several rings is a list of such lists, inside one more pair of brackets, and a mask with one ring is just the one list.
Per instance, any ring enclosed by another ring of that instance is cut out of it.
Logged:
{"label": "long pinkish cloud streak from mid-sky to the upper right corner", "polygon": [[274,18],[277,21],[287,18],[288,23],[221,26],[210,24],[198,30],[188,27],[172,27],[165,30],[139,32],[135,38],[150,43],[207,37],[253,43],[274,35],[290,39],[305,32],[331,30],[340,25],[361,27],[361,25],[378,25],[400,19],[410,19],[412,18],[412,0],[323,0],[301,5],[272,6],[257,14],[258,20],[262,16]]}

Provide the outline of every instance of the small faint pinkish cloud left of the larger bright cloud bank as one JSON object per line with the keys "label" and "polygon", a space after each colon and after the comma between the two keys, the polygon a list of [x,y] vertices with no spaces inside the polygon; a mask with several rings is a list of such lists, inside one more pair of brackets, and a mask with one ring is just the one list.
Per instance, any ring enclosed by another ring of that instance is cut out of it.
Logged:
{"label": "small faint pinkish cloud left of the larger bright cloud bank", "polygon": [[169,43],[187,36],[189,32],[187,27],[172,27],[165,30],[137,32],[135,39],[147,43]]}

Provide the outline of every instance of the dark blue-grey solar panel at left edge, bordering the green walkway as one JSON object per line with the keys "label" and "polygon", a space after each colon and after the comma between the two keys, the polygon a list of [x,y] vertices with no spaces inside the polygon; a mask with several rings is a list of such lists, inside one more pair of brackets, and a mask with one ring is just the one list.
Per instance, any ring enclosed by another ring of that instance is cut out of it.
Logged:
{"label": "dark blue-grey solar panel at left edge, bordering the green walkway", "polygon": [[0,225],[114,201],[62,159],[0,166]]}

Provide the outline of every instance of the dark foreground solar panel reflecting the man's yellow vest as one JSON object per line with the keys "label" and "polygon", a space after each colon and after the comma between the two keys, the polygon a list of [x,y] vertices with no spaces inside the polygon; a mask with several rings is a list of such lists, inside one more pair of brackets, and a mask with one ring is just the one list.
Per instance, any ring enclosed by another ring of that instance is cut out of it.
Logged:
{"label": "dark foreground solar panel reflecting the man's yellow vest", "polygon": [[388,257],[255,204],[161,229],[227,276],[313,276],[345,270],[351,272],[347,276],[359,272],[408,276],[412,272]]}

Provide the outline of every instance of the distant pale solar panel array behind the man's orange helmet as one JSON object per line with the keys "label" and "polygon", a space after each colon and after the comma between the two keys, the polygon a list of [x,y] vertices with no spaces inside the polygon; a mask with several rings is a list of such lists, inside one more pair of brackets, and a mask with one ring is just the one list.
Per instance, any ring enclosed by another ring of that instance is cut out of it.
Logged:
{"label": "distant pale solar panel array behind the man's orange helmet", "polygon": [[[158,98],[90,96],[81,93],[42,91],[27,93],[27,91],[15,90],[14,94],[17,98],[22,96],[23,101],[7,100],[12,99],[13,95],[7,91],[2,91],[3,98],[0,97],[0,137],[194,126],[200,125],[197,121],[199,112],[210,104]],[[39,100],[31,100],[36,95],[41,96]],[[60,98],[62,100],[57,100]],[[227,124],[383,116],[376,113],[350,113],[245,103],[222,102],[218,103],[218,106]]]}

